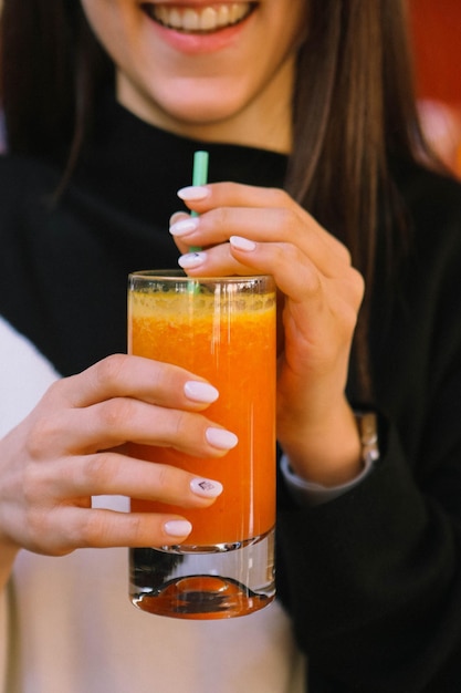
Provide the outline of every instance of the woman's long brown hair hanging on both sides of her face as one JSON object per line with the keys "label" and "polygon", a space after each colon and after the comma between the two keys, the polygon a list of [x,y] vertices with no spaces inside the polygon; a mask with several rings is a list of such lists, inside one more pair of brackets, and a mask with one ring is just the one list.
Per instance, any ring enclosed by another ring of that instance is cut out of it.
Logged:
{"label": "woman's long brown hair hanging on both sides of her face", "polygon": [[[402,227],[390,161],[425,149],[405,0],[306,1],[285,187],[347,245],[365,276],[355,362],[370,400],[367,327],[383,210],[389,238]],[[4,0],[0,90],[10,151],[61,157],[65,183],[113,72],[77,0]]]}

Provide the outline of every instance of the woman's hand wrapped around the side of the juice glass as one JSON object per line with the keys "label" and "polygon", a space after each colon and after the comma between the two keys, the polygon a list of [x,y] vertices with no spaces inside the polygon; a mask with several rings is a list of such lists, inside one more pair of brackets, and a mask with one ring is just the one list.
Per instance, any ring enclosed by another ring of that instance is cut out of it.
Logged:
{"label": "woman's hand wrapped around the side of the juice glass", "polygon": [[[235,436],[201,412],[218,392],[174,365],[109,356],[53,384],[32,413],[0,442],[0,544],[64,555],[80,547],[160,546],[182,541],[178,515],[92,508],[92,496],[126,495],[184,508],[209,506],[192,474],[129,457],[124,443],[171,446],[220,457]],[[208,485],[207,485],[208,486]]]}

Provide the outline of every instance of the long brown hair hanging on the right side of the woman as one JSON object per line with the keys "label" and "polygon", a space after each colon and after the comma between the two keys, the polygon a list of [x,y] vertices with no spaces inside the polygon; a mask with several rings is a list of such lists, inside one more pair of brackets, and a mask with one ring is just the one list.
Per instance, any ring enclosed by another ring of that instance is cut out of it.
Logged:
{"label": "long brown hair hanging on the right side of the woman", "polygon": [[354,341],[364,403],[373,402],[368,328],[379,223],[387,278],[408,242],[391,162],[432,161],[419,124],[402,0],[308,0],[298,55],[295,148],[286,188],[350,250],[367,287]]}

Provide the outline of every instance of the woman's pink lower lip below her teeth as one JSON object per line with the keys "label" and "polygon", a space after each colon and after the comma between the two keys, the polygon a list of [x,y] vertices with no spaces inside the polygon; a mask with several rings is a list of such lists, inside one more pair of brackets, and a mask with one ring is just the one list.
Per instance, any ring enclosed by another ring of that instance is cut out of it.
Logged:
{"label": "woman's pink lower lip below her teeth", "polygon": [[245,29],[253,17],[252,12],[245,19],[232,27],[220,29],[210,33],[184,33],[175,29],[168,29],[147,17],[161,40],[177,51],[184,53],[213,53],[232,45],[237,38]]}

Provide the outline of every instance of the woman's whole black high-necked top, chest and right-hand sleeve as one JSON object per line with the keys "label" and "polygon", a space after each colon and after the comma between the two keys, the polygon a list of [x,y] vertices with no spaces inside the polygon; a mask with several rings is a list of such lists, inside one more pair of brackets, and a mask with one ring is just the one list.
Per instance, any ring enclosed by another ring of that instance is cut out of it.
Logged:
{"label": "woman's whole black high-necked top, chest and right-hand sleeve", "polygon": [[[200,146],[114,103],[96,134],[54,205],[52,163],[0,159],[0,313],[62,374],[125,351],[127,273],[176,267],[168,219]],[[206,147],[211,182],[283,183],[280,154]],[[461,188],[409,165],[397,182],[413,235],[394,291],[376,289],[381,458],[315,508],[280,485],[277,589],[310,693],[455,693],[461,682]]]}

